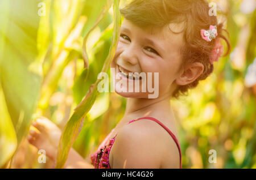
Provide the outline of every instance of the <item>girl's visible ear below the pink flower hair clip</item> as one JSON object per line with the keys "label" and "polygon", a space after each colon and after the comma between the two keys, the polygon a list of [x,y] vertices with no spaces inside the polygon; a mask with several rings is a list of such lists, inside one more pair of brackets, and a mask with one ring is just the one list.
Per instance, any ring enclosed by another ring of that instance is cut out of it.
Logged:
{"label": "girl's visible ear below the pink flower hair clip", "polygon": [[187,85],[195,81],[204,72],[204,65],[194,62],[184,68],[181,75],[175,80],[177,85]]}

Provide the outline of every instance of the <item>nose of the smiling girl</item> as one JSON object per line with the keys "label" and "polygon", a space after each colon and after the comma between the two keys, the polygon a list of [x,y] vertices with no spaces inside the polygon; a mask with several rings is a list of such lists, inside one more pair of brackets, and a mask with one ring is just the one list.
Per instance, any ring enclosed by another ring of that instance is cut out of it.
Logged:
{"label": "nose of the smiling girl", "polygon": [[136,52],[135,47],[127,47],[120,55],[121,59],[131,65],[137,65],[138,63],[138,52]]}

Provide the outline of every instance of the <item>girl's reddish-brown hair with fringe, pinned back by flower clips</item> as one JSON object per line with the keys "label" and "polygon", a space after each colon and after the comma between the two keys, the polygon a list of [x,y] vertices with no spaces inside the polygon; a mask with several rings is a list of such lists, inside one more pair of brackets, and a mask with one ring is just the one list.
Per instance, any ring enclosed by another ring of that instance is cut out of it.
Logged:
{"label": "girl's reddish-brown hair with fringe, pinned back by flower clips", "polygon": [[200,80],[206,79],[213,72],[213,65],[209,59],[217,38],[210,42],[205,41],[201,38],[201,29],[209,29],[210,25],[216,25],[218,38],[222,38],[227,44],[225,55],[230,52],[229,40],[223,35],[223,32],[227,31],[223,29],[223,23],[218,24],[216,16],[209,15],[209,10],[209,4],[205,0],[134,0],[120,9],[125,19],[141,28],[185,23],[182,31],[185,44],[180,49],[182,55],[180,67],[200,62],[204,66],[204,71],[192,83],[178,85],[172,97],[178,98],[180,95],[187,95],[188,89],[195,88]]}

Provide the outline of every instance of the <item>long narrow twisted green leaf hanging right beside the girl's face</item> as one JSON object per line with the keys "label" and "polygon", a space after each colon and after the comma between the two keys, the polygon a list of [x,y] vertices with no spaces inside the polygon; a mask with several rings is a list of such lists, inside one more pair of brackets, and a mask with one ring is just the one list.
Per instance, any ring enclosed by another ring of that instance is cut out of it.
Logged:
{"label": "long narrow twisted green leaf hanging right beside the girl's face", "polygon": [[[117,47],[119,38],[119,29],[121,27],[121,15],[119,14],[119,0],[113,1],[114,11],[114,28],[112,37],[112,46],[110,47],[109,55],[106,58],[102,72],[108,71],[110,62],[112,61]],[[97,23],[97,22],[96,22]],[[85,42],[86,43],[86,42]],[[86,50],[85,50],[86,53]],[[75,109],[72,117],[69,119],[67,125],[64,128],[64,132],[60,138],[59,149],[57,153],[57,162],[55,168],[63,168],[65,161],[67,160],[69,150],[72,144],[75,142],[77,135],[81,130],[82,123],[84,121],[86,113],[89,112],[90,108],[94,104],[99,92],[97,91],[97,84],[100,80],[97,80],[95,84],[91,85],[87,95],[79,106]]]}

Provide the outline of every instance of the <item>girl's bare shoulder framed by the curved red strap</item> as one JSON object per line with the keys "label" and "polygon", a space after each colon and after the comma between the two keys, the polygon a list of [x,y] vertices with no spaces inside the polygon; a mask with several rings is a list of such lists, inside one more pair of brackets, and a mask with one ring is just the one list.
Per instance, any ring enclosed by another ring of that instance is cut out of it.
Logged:
{"label": "girl's bare shoulder framed by the curved red strap", "polygon": [[163,160],[170,156],[167,149],[173,147],[162,128],[147,119],[122,127],[112,147],[113,168],[164,168]]}

